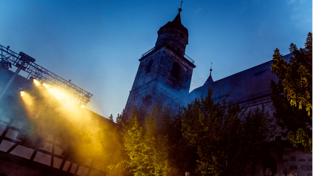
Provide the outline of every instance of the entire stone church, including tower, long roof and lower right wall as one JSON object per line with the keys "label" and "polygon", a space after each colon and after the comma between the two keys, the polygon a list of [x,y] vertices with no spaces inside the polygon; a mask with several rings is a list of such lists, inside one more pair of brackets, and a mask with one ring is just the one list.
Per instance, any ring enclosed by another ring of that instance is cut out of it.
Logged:
{"label": "entire stone church, including tower, long roof and lower right wall", "polygon": [[[213,88],[213,97],[216,102],[230,93],[228,100],[239,101],[240,105],[246,105],[251,109],[264,104],[265,110],[272,114],[275,108],[270,98],[270,82],[278,80],[271,73],[272,61],[217,81],[213,81],[210,73],[203,86],[189,93],[192,70],[196,66],[194,61],[185,55],[188,30],[181,23],[181,11],[179,9],[175,19],[159,29],[155,47],[139,59],[140,65],[126,103],[125,112],[131,113],[134,106],[139,107],[146,95],[151,95],[152,104],[161,99],[164,100],[164,104],[169,103],[170,108],[175,110],[178,105],[186,106],[195,98],[206,95],[210,87]],[[288,62],[290,57],[291,54],[288,54],[283,58]],[[274,118],[270,127],[277,128],[276,137],[285,132],[276,125]],[[312,175],[312,154],[303,154],[293,148],[285,138],[282,138],[281,143],[285,174],[295,171],[298,175]],[[265,168],[271,168],[276,172],[275,146],[275,140],[269,143],[269,155],[249,166],[250,168],[247,168],[248,175],[264,176]]]}

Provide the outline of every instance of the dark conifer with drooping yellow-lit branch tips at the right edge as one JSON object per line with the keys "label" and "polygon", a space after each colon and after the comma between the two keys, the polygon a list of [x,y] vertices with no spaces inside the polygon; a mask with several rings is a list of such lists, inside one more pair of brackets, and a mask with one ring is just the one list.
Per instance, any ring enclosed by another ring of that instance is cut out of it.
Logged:
{"label": "dark conifer with drooping yellow-lit branch tips at the right edge", "polygon": [[308,33],[305,48],[298,49],[291,43],[289,50],[293,55],[289,63],[278,48],[274,50],[271,68],[278,81],[272,80],[270,86],[273,115],[277,124],[287,129],[294,147],[312,153],[312,33]]}

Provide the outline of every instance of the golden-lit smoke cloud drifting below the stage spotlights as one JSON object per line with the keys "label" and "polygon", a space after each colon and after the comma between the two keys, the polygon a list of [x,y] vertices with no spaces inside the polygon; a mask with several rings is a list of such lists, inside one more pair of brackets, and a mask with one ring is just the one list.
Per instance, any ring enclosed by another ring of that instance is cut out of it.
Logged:
{"label": "golden-lit smoke cloud drifting below the stage spotlights", "polygon": [[112,121],[91,112],[67,98],[57,88],[37,86],[25,92],[21,104],[30,123],[33,141],[54,135],[62,139],[65,155],[73,159],[94,158],[107,166],[123,155],[123,143]]}

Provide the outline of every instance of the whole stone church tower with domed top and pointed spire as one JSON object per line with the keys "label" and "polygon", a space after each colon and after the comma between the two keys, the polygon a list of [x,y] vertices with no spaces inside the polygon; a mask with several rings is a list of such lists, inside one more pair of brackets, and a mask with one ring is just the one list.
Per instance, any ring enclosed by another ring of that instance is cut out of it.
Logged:
{"label": "whole stone church tower with domed top and pointed spire", "polygon": [[129,93],[125,112],[140,107],[145,96],[151,95],[152,104],[159,99],[171,109],[185,105],[190,89],[194,61],[185,54],[188,30],[181,23],[180,12],[172,22],[162,26],[155,47],[141,56],[140,65]]}

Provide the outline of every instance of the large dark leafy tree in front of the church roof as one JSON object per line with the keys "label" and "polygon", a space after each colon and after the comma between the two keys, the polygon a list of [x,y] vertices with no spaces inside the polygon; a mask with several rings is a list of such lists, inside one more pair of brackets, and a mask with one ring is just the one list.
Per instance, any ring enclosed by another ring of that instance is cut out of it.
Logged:
{"label": "large dark leafy tree in front of the church roof", "polygon": [[247,163],[263,155],[269,141],[269,114],[264,106],[254,112],[239,102],[223,99],[214,103],[212,89],[184,108],[182,132],[196,149],[200,175],[239,175]]}

